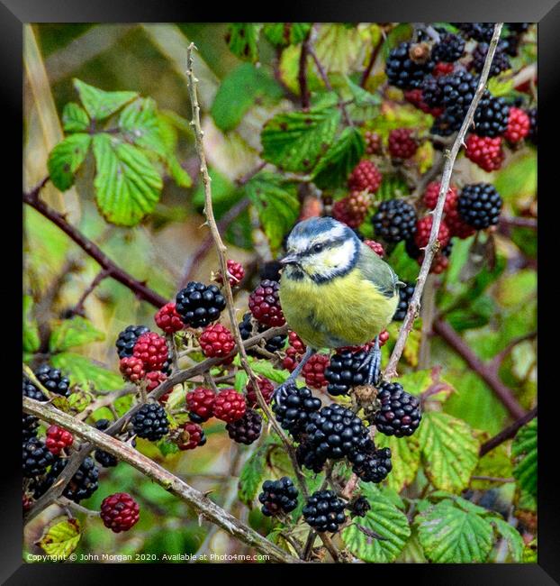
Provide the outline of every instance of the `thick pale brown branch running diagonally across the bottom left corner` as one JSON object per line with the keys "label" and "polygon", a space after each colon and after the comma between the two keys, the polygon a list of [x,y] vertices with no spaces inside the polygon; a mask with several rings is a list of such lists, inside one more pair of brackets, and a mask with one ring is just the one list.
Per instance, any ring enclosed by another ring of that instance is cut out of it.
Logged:
{"label": "thick pale brown branch running diagonally across the bottom left corner", "polygon": [[230,513],[205,497],[202,492],[194,490],[185,481],[177,478],[174,474],[168,472],[165,468],[153,462],[129,444],[119,442],[110,435],[95,429],[95,427],[88,426],[78,421],[75,417],[69,416],[58,409],[48,407],[44,403],[29,397],[23,397],[23,410],[35,417],[40,417],[43,421],[50,424],[64,427],[72,434],[77,435],[87,442],[86,445],[95,445],[95,447],[99,447],[105,452],[113,454],[119,460],[131,464],[136,470],[142,472],[153,481],[158,482],[164,489],[176,495],[179,499],[185,500],[199,515],[221,526],[231,536],[238,538],[243,543],[255,547],[258,552],[269,555],[275,562],[299,562],[297,558],[287,554],[276,545],[267,541],[265,537],[260,536],[256,531],[241,523],[237,518],[231,516]]}

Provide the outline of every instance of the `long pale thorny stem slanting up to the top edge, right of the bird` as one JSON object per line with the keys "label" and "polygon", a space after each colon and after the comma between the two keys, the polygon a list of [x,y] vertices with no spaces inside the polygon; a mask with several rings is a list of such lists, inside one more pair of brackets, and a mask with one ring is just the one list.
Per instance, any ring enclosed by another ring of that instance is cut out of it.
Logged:
{"label": "long pale thorny stem slanting up to the top edge, right of the bird", "polygon": [[492,41],[490,41],[490,47],[488,49],[488,53],[486,54],[486,59],[484,60],[483,71],[481,73],[480,79],[478,80],[478,87],[476,87],[476,92],[474,93],[473,101],[471,102],[471,105],[469,106],[469,109],[465,115],[465,120],[461,125],[461,129],[457,133],[455,142],[451,147],[451,151],[447,150],[444,153],[445,163],[439,187],[438,205],[436,206],[436,209],[433,212],[433,222],[431,226],[431,233],[429,234],[428,246],[426,247],[426,251],[424,253],[424,260],[422,261],[422,265],[420,267],[420,274],[416,282],[416,288],[414,288],[414,294],[412,295],[411,302],[406,313],[406,317],[404,318],[401,330],[399,331],[399,336],[397,338],[397,342],[395,343],[393,353],[391,354],[389,364],[387,365],[387,368],[384,372],[384,377],[386,380],[390,380],[391,378],[397,375],[397,364],[401,359],[402,351],[404,350],[404,345],[406,344],[408,335],[411,333],[414,318],[420,307],[420,298],[422,296],[424,283],[426,282],[426,278],[428,277],[431,262],[433,261],[434,256],[438,250],[436,241],[438,240],[439,224],[441,224],[443,206],[446,201],[447,189],[449,188],[451,174],[453,173],[453,166],[455,164],[457,154],[459,153],[461,146],[465,142],[465,135],[471,128],[471,125],[473,124],[476,106],[478,105],[481,97],[483,96],[484,87],[486,86],[486,81],[488,79],[488,74],[490,72],[490,66],[492,65],[492,59],[496,51],[498,40],[500,38],[501,25],[502,23],[496,23],[496,25],[494,26]]}

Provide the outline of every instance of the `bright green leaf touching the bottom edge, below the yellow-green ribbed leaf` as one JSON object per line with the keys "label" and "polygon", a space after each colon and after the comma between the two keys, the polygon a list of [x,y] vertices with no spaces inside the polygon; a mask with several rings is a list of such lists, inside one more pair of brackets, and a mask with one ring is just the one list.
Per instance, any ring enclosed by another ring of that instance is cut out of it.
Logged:
{"label": "bright green leaf touching the bottom edge, below the yellow-green ribbed leaf", "polygon": [[416,517],[424,554],[434,563],[483,563],[492,550],[492,525],[442,500]]}

